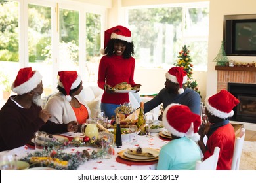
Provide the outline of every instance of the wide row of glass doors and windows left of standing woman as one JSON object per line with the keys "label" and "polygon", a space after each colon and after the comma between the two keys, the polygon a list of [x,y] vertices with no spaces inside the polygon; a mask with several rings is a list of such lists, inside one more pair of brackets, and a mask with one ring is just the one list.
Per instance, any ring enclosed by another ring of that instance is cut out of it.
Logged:
{"label": "wide row of glass doors and windows left of standing woman", "polygon": [[0,1],[0,12],[0,76],[10,86],[20,67],[43,75],[45,95],[56,91],[61,70],[76,70],[85,84],[96,81],[106,8],[77,1],[13,0]]}

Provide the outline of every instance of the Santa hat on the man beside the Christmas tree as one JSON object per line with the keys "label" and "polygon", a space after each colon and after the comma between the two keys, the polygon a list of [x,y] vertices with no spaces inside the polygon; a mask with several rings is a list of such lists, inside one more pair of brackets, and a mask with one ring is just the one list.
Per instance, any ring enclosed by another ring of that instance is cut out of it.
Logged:
{"label": "Santa hat on the man beside the Christmas tree", "polygon": [[183,67],[171,67],[171,69],[169,69],[169,71],[165,73],[165,77],[171,82],[179,84],[179,94],[182,94],[184,92],[182,84],[187,82],[188,76],[186,75],[186,71],[183,69]]}

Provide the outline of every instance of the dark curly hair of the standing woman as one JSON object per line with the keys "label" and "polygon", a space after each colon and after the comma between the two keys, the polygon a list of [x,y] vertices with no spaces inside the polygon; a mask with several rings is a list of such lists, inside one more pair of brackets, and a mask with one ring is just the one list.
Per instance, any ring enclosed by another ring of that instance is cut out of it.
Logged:
{"label": "dark curly hair of the standing woman", "polygon": [[123,58],[128,59],[134,55],[133,42],[127,42],[121,39],[110,39],[105,50],[105,54],[107,54],[107,56],[112,56],[114,54],[114,43],[125,44],[126,48],[125,48],[125,51],[123,52]]}

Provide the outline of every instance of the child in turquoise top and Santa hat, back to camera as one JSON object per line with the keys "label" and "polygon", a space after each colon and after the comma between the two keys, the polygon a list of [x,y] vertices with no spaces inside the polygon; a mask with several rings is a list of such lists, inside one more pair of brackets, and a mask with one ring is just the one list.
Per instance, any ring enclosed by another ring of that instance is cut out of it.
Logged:
{"label": "child in turquoise top and Santa hat, back to camera", "polygon": [[194,170],[201,160],[196,142],[201,118],[185,105],[173,103],[163,112],[163,125],[171,133],[172,140],[165,144],[158,160],[158,170]]}

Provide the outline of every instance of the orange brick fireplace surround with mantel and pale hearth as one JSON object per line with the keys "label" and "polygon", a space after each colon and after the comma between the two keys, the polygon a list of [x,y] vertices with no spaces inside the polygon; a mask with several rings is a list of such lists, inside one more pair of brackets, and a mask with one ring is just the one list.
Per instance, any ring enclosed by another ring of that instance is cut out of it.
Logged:
{"label": "orange brick fireplace surround with mantel and pale hearth", "polygon": [[[253,67],[224,67],[216,66],[217,70],[217,92],[222,89],[228,90],[228,82],[256,84],[256,68]],[[256,91],[255,91],[256,92]],[[233,122],[232,122],[233,123]],[[245,128],[256,131],[255,124],[234,122],[244,124]]]}

